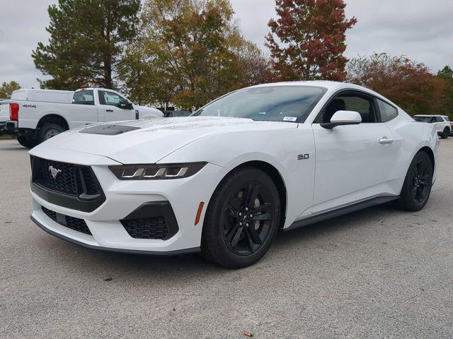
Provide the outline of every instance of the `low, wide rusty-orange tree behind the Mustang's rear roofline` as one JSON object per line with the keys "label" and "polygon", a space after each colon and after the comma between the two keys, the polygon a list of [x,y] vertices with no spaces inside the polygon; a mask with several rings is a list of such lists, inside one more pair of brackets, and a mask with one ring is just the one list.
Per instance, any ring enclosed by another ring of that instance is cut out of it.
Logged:
{"label": "low, wide rusty-orange tree behind the Mustang's rear roofline", "polygon": [[409,114],[436,114],[445,103],[445,82],[428,66],[386,53],[357,57],[348,64],[348,81],[388,97]]}

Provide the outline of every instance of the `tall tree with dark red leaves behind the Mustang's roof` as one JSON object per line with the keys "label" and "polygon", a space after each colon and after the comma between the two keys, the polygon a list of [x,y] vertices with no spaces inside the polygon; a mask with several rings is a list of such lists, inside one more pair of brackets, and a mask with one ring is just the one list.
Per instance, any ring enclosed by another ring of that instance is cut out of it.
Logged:
{"label": "tall tree with dark red leaves behind the Mustang's roof", "polygon": [[265,37],[273,69],[282,81],[345,79],[345,32],[357,20],[345,17],[343,0],[275,0],[277,20]]}

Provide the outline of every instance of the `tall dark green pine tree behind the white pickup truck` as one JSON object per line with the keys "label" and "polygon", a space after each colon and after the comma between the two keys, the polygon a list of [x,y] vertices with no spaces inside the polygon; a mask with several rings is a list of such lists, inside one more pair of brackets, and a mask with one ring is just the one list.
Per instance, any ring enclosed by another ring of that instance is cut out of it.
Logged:
{"label": "tall dark green pine tree behind the white pickup truck", "polygon": [[32,57],[50,80],[42,88],[115,88],[125,45],[137,34],[140,0],[59,0],[48,8],[48,44]]}

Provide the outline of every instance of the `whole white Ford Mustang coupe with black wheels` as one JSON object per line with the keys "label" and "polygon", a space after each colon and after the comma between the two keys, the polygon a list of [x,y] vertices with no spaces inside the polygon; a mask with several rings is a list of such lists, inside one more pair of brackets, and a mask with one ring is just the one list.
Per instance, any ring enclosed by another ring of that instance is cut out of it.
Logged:
{"label": "whole white Ford Mustang coupe with black wheels", "polygon": [[278,229],[393,200],[420,210],[438,144],[433,126],[357,85],[258,85],[192,117],[86,126],[38,145],[31,218],[92,249],[202,251],[239,268]]}

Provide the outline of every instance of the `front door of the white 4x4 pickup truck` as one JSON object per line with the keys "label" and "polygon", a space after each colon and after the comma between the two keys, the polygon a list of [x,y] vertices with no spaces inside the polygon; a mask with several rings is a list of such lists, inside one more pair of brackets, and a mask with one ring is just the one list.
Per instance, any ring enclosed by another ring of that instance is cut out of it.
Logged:
{"label": "front door of the white 4x4 pickup truck", "polygon": [[103,121],[133,120],[135,111],[133,107],[121,107],[127,100],[115,92],[99,90],[99,103],[104,111]]}

